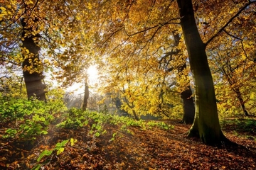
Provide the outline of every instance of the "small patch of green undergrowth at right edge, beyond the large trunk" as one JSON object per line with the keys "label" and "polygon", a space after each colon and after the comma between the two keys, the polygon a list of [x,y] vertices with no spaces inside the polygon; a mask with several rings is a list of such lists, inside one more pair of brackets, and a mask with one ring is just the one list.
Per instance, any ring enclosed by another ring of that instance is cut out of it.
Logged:
{"label": "small patch of green undergrowth at right edge, beyond the large trunk", "polygon": [[256,119],[255,118],[235,118],[220,120],[223,130],[232,132],[238,137],[246,137],[256,140]]}

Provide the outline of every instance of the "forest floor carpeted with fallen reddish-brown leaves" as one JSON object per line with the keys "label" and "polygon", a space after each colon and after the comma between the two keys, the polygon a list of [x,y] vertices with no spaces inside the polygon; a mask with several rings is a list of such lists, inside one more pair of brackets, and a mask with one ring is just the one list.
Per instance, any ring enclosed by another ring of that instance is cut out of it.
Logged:
{"label": "forest floor carpeted with fallen reddish-brown leaves", "polygon": [[[256,169],[256,120],[222,123],[223,132],[241,146],[204,145],[186,137],[191,125],[166,120],[169,130],[142,129],[105,124],[95,137],[89,126],[78,130],[50,128],[48,135],[30,142],[6,140],[0,123],[0,169]],[[250,126],[251,125],[251,126]],[[46,149],[73,138],[57,155],[56,150],[36,161]]]}

